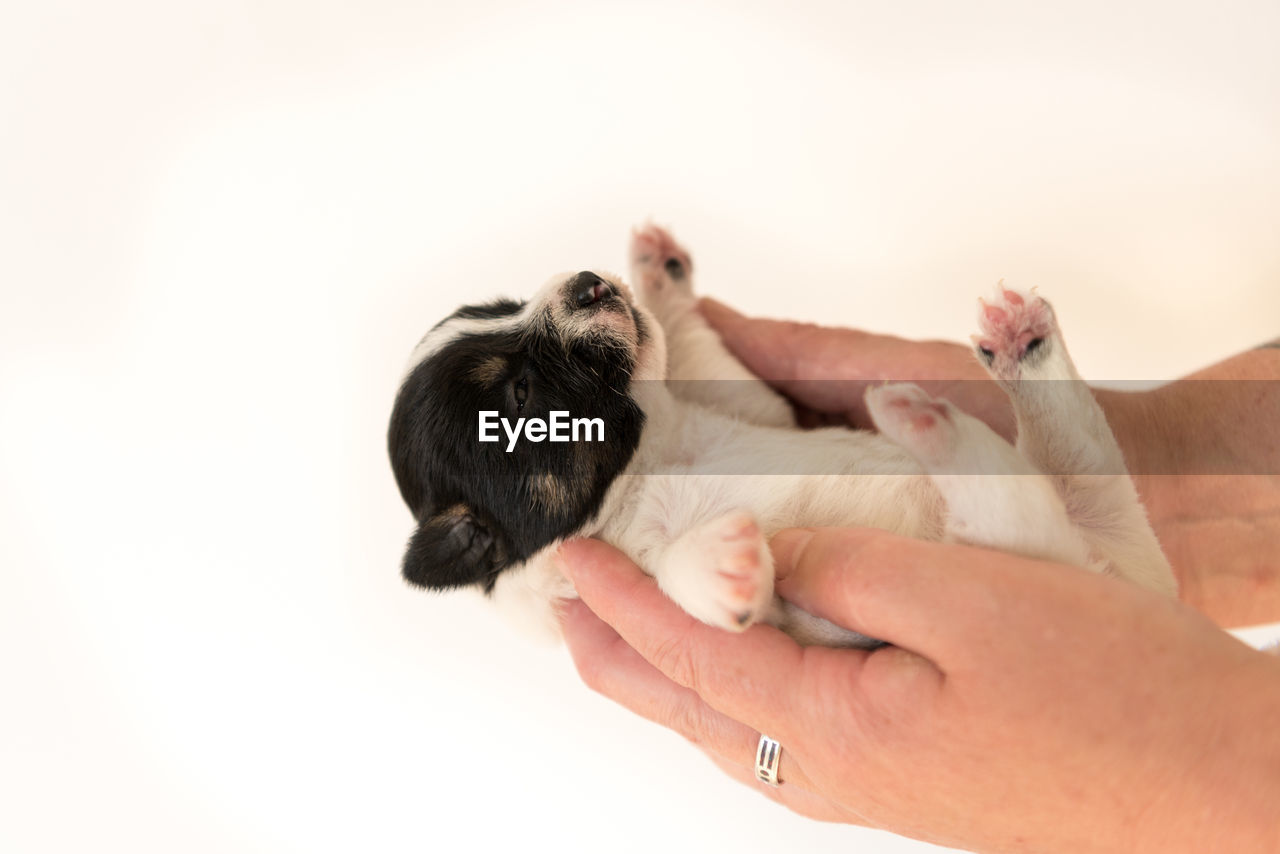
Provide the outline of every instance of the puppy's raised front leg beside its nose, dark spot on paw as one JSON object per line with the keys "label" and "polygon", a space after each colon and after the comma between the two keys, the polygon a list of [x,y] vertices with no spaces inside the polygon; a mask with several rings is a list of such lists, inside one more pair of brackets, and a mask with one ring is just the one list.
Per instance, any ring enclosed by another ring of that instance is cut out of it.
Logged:
{"label": "puppy's raised front leg beside its nose, dark spot on paw", "polygon": [[672,393],[753,424],[794,426],[787,402],[728,352],[698,311],[689,252],[650,224],[632,230],[630,255],[636,296],[666,333]]}

